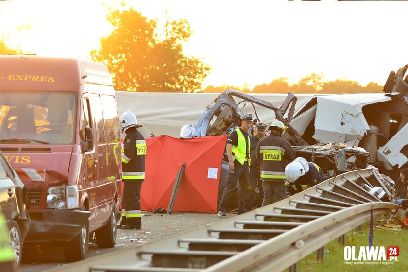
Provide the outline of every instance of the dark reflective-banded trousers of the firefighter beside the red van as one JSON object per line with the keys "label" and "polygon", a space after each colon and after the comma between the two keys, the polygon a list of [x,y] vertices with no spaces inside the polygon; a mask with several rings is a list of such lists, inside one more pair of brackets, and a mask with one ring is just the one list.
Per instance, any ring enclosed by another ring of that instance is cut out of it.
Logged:
{"label": "dark reflective-banded trousers of the firefighter beside the red van", "polygon": [[135,180],[126,180],[123,187],[122,224],[142,226],[140,191],[142,183]]}

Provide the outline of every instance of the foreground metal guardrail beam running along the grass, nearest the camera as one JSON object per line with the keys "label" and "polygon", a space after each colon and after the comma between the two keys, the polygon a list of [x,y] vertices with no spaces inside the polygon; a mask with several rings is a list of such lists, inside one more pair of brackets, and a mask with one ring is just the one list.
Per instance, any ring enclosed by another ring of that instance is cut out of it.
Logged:
{"label": "foreground metal guardrail beam running along the grass, nearest the camera", "polygon": [[389,202],[364,203],[323,216],[293,228],[264,243],[221,261],[205,272],[282,271],[297,263],[346,232],[388,214],[395,204]]}

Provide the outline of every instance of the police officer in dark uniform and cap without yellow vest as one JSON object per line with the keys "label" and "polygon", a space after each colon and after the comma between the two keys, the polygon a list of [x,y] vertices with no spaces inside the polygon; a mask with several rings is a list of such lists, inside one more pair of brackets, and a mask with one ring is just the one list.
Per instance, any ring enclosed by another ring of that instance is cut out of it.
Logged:
{"label": "police officer in dark uniform and cap without yellow vest", "polygon": [[[256,123],[255,124],[255,128],[256,128],[256,135],[252,135],[249,137],[250,143],[251,143],[251,166],[250,171],[249,171],[249,180],[250,180],[250,186],[252,188],[256,188],[256,186],[258,187],[258,200],[255,203],[255,207],[259,208],[262,206],[262,201],[263,201],[263,188],[262,188],[262,181],[261,181],[261,170],[260,170],[260,164],[259,164],[259,160],[256,157],[255,151],[256,151],[256,146],[258,145],[258,142],[260,139],[262,139],[263,137],[265,137],[266,134],[266,129],[267,129],[268,125],[264,124],[264,123]],[[252,197],[251,199],[255,200],[255,190],[252,193]]]}

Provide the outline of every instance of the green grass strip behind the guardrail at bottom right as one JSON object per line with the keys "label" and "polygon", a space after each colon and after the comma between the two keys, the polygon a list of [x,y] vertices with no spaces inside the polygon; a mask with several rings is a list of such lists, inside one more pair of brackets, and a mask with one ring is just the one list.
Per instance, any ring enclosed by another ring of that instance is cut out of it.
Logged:
{"label": "green grass strip behind the guardrail at bottom right", "polygon": [[[384,223],[386,218],[380,217],[374,222],[375,225]],[[396,217],[392,224],[400,224],[400,218]],[[350,231],[345,235],[345,244],[333,240],[324,247],[324,262],[316,260],[316,252],[308,255],[298,263],[299,272],[328,272],[328,271],[347,271],[347,272],[406,272],[408,271],[408,230],[392,232],[387,230],[374,229],[373,246],[399,246],[398,261],[387,262],[383,264],[347,264],[344,261],[344,247],[356,246],[356,257],[360,246],[368,246],[368,237],[370,234],[369,223],[361,226],[361,231]]]}

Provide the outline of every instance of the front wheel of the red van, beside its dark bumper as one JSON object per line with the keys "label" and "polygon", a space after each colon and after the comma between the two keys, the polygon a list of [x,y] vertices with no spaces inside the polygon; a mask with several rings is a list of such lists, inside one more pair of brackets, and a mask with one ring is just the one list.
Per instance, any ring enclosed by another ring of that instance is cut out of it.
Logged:
{"label": "front wheel of the red van, beside its dark bumper", "polygon": [[[85,210],[85,209],[83,209]],[[64,256],[69,262],[85,259],[89,247],[89,222],[86,220],[77,237],[67,242],[64,246]]]}

